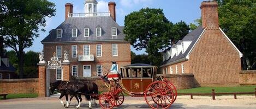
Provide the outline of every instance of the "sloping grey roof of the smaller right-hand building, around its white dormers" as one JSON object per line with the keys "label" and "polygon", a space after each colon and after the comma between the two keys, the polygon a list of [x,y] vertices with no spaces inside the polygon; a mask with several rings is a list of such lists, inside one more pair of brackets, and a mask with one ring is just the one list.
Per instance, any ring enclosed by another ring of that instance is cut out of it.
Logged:
{"label": "sloping grey roof of the smaller right-hand building, around its white dormers", "polygon": [[197,29],[188,33],[186,36],[184,36],[182,40],[179,40],[175,44],[173,44],[172,47],[175,47],[176,44],[181,44],[182,41],[192,41],[189,44],[187,50],[183,54],[180,52],[180,54],[178,54],[177,56],[174,55],[172,58],[169,57],[169,59],[161,63],[160,67],[168,65],[171,62],[186,60],[185,57],[188,55],[190,49],[192,49],[193,45],[197,42],[197,40],[199,39],[199,36],[201,35],[201,33],[203,33],[203,31],[204,31],[204,28],[200,26]]}

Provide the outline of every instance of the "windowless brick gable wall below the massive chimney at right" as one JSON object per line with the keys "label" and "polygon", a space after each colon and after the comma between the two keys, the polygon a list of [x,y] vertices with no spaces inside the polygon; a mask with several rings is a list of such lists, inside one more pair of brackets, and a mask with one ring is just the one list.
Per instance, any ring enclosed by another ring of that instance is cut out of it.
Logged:
{"label": "windowless brick gable wall below the massive chimney at right", "polygon": [[220,30],[206,29],[189,54],[190,73],[201,86],[239,83],[239,52]]}

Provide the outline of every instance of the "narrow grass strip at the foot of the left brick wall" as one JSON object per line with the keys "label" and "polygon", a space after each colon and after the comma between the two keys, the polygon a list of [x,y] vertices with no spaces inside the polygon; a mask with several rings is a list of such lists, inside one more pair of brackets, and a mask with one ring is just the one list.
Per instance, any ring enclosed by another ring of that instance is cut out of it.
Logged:
{"label": "narrow grass strip at the foot of the left brick wall", "polygon": [[[13,99],[13,98],[35,98],[38,97],[37,93],[21,93],[21,94],[8,94],[6,99]],[[0,97],[0,100],[3,99],[3,96]]]}

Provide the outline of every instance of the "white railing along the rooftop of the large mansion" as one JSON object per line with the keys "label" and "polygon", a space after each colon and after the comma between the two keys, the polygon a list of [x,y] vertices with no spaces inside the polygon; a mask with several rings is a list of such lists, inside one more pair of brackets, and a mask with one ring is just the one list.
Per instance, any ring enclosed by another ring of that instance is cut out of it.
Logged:
{"label": "white railing along the rooftop of the large mansion", "polygon": [[68,17],[108,17],[109,12],[96,12],[96,13],[69,13]]}

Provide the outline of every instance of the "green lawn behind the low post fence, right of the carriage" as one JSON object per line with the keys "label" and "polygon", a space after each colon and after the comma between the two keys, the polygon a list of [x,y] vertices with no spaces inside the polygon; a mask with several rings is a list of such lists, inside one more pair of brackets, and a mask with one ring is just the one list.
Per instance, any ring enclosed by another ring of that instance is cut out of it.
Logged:
{"label": "green lawn behind the low post fence, right of the carriage", "polygon": [[211,93],[215,89],[215,93],[225,92],[255,92],[256,86],[238,86],[238,87],[197,87],[190,89],[178,89],[178,93]]}

